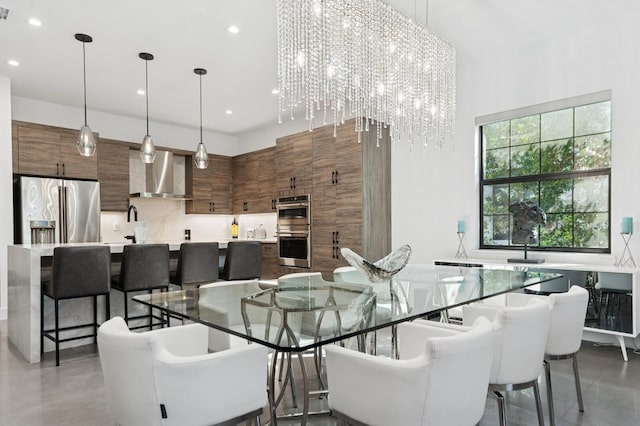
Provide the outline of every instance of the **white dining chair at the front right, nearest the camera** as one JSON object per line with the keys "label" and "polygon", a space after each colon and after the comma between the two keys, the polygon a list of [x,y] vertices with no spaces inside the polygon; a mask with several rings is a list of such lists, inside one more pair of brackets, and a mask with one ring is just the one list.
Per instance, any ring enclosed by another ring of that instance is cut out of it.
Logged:
{"label": "white dining chair at the front right, nearest the camera", "polygon": [[481,318],[462,333],[403,323],[398,334],[408,358],[325,349],[332,415],[353,425],[477,424],[493,359],[492,324]]}

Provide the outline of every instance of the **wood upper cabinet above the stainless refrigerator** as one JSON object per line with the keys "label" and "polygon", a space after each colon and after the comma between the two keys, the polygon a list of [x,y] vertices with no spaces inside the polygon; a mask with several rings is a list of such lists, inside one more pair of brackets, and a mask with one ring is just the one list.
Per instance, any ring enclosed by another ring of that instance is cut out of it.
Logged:
{"label": "wood upper cabinet above the stainless refrigerator", "polygon": [[[76,148],[79,130],[14,122],[14,173],[78,179],[98,178],[98,155],[82,157]],[[94,134],[98,140],[98,134]],[[99,148],[98,148],[99,150]],[[17,166],[17,168],[16,168]]]}

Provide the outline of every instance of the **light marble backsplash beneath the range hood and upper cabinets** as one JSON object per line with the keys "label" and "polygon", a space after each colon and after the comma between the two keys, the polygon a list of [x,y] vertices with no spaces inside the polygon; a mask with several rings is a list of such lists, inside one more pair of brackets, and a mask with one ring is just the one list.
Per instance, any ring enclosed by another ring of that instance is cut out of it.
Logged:
{"label": "light marble backsplash beneath the range hood and upper cabinets", "polygon": [[[184,230],[191,230],[192,241],[218,241],[231,238],[233,215],[190,214],[185,211],[185,201],[154,198],[135,198],[131,204],[138,210],[138,221],[149,223],[147,241],[178,241],[184,239]],[[275,238],[276,214],[244,214],[235,216],[238,233],[245,238],[247,230],[263,224],[267,238]],[[100,236],[103,242],[122,242],[125,235],[133,235],[133,212],[131,222],[127,214],[103,212],[100,215]]]}

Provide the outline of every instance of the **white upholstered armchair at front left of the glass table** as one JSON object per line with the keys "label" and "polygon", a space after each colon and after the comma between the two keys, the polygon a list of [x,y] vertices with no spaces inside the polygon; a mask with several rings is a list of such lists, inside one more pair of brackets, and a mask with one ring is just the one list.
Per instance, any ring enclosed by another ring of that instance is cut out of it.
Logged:
{"label": "white upholstered armchair at front left of the glass table", "polygon": [[[100,326],[100,362],[121,426],[236,424],[267,405],[267,349],[207,353],[207,327],[131,333],[115,317]],[[233,422],[231,422],[233,420]]]}

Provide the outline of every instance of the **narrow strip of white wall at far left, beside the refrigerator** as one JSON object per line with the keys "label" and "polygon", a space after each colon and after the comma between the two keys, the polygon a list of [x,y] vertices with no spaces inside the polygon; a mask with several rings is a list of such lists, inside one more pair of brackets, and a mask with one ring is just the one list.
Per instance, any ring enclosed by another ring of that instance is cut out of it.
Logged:
{"label": "narrow strip of white wall at far left, beside the refrigerator", "polygon": [[13,178],[11,174],[11,85],[0,76],[0,320],[7,318],[7,245],[13,244]]}

